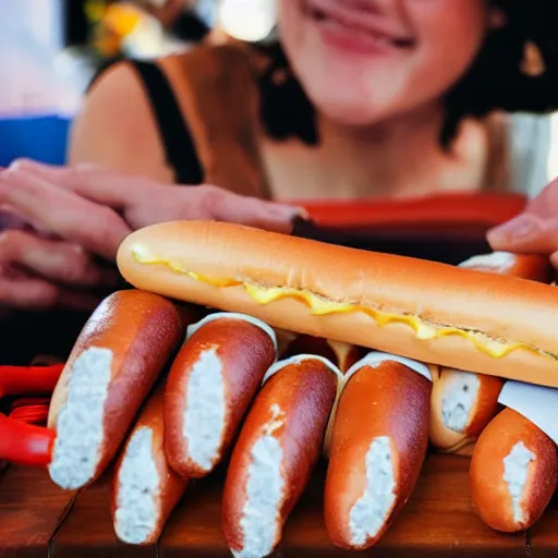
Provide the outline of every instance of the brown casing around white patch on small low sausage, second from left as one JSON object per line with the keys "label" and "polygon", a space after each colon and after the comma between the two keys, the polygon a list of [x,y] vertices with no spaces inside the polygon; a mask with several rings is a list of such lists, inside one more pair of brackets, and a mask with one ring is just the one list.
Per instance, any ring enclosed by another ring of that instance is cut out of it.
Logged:
{"label": "brown casing around white patch on small low sausage, second from left", "polygon": [[[165,384],[161,383],[161,385],[147,400],[137,418],[135,426],[133,427],[132,432],[130,433],[130,436],[128,437],[128,440],[130,441],[133,435],[141,428],[149,428],[150,430],[153,430],[151,456],[156,463],[159,477],[161,480],[158,488],[159,494],[156,501],[158,514],[157,527],[153,532],[151,536],[144,543],[142,543],[146,545],[153,544],[159,538],[168,518],[170,517],[172,510],[179,502],[180,498],[184,494],[184,490],[187,486],[187,480],[183,480],[179,475],[177,475],[167,462],[167,457],[165,454],[163,408]],[[126,446],[124,446],[124,448],[122,449],[120,459],[118,460],[118,463],[114,468],[114,482],[111,499],[112,522],[114,526],[117,521],[116,511],[118,507],[118,494],[120,489],[119,474],[122,461],[126,452],[126,447],[128,442]]]}

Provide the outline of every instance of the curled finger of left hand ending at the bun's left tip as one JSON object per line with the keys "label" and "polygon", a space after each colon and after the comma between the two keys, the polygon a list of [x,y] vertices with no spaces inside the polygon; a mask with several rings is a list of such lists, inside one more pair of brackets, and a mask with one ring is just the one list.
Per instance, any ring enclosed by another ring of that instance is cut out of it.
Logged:
{"label": "curled finger of left hand ending at the bun's left tip", "polygon": [[0,233],[0,264],[73,287],[113,287],[118,281],[116,270],[96,265],[81,246],[19,230]]}

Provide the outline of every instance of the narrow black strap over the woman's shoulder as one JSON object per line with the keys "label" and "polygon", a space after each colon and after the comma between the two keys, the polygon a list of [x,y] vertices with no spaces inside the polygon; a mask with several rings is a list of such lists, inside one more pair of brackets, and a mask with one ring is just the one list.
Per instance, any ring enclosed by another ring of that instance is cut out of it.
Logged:
{"label": "narrow black strap over the woman's shoulder", "polygon": [[199,184],[204,173],[189,126],[167,76],[155,62],[130,61],[136,70],[151,106],[167,162],[181,184]]}

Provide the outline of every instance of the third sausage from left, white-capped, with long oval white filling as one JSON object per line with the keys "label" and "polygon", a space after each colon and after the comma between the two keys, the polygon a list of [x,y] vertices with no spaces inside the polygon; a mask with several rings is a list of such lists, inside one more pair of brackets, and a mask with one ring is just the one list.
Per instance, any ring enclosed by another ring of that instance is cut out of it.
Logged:
{"label": "third sausage from left, white-capped, with long oval white filling", "polygon": [[175,472],[213,471],[276,359],[274,330],[248,316],[218,313],[189,328],[165,396],[165,445]]}

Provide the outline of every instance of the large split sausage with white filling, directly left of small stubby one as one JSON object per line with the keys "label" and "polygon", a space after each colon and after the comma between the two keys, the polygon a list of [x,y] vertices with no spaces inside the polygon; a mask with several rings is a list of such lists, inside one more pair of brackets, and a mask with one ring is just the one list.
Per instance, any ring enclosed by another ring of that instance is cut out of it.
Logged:
{"label": "large split sausage with white filling, directly left of small stubby one", "polygon": [[409,499],[428,446],[429,375],[423,364],[378,353],[348,372],[324,500],[335,545],[375,545]]}

